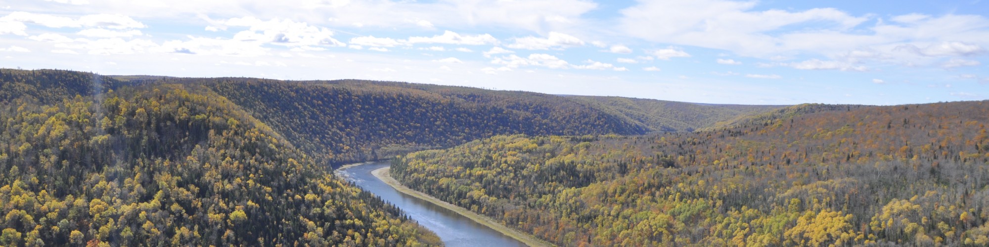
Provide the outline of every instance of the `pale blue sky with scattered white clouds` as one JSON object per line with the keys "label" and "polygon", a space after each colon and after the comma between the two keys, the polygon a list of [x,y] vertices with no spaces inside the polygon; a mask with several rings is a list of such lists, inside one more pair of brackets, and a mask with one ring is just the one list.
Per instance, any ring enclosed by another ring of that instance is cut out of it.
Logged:
{"label": "pale blue sky with scattered white clouds", "polygon": [[748,105],[989,99],[989,1],[0,0],[0,67]]}

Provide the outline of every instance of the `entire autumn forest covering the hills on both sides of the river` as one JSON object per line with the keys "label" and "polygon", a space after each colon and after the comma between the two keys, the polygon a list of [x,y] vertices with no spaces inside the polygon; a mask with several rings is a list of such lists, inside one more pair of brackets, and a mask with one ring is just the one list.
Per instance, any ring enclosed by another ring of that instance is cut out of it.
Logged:
{"label": "entire autumn forest covering the hills on both sides of the river", "polygon": [[986,246],[987,118],[0,69],[0,245],[442,245],[331,173],[392,159],[561,246]]}

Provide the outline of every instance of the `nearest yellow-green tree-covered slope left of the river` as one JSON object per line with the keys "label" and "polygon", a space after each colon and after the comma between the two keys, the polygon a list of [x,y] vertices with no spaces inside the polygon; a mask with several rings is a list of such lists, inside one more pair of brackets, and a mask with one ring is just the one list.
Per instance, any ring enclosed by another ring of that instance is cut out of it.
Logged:
{"label": "nearest yellow-green tree-covered slope left of the river", "polygon": [[209,88],[0,79],[0,245],[439,244]]}

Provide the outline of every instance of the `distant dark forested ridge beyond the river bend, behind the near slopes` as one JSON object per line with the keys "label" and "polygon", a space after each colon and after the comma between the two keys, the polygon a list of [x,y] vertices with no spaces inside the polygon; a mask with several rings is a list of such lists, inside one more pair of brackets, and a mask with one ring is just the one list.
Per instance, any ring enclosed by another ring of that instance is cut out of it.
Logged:
{"label": "distant dark forested ridge beyond the river bend, behind the near slopes", "polygon": [[[616,106],[572,97],[468,87],[363,80],[118,78],[130,84],[180,83],[210,88],[284,134],[317,160],[333,165],[449,147],[497,134],[686,131],[774,109],[696,104],[681,107],[665,102],[670,107],[649,105],[648,112],[630,118],[631,113]],[[712,109],[717,112],[709,113]],[[673,121],[688,116],[701,117]]]}

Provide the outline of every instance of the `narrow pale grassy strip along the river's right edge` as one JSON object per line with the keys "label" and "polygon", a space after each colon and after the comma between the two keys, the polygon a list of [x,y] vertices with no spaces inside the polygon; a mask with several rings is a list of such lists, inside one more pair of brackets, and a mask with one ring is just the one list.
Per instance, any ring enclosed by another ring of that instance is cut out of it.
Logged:
{"label": "narrow pale grassy strip along the river's right edge", "polygon": [[525,243],[526,245],[529,245],[529,246],[555,246],[555,245],[553,245],[551,243],[548,243],[546,241],[543,241],[541,239],[538,239],[536,237],[533,237],[533,236],[531,236],[529,234],[525,234],[525,233],[519,232],[519,231],[517,231],[515,229],[508,228],[507,226],[504,226],[501,223],[498,223],[497,221],[494,221],[494,219],[492,219],[491,217],[478,214],[478,213],[476,213],[474,211],[471,211],[471,210],[468,210],[467,208],[464,208],[464,207],[451,205],[449,203],[443,202],[442,200],[439,200],[439,199],[433,198],[432,196],[426,195],[425,193],[421,193],[421,192],[418,192],[418,191],[409,189],[408,187],[405,187],[404,185],[402,185],[402,183],[399,183],[398,180],[395,180],[394,178],[392,178],[391,174],[389,173],[389,167],[385,167],[385,168],[381,168],[381,169],[378,169],[378,170],[374,170],[374,171],[371,172],[371,174],[374,175],[376,178],[380,179],[382,182],[385,182],[385,184],[388,184],[392,188],[395,188],[395,190],[404,193],[405,195],[412,196],[412,197],[415,197],[415,198],[418,198],[418,199],[421,199],[421,200],[425,200],[425,201],[427,201],[429,203],[432,203],[434,205],[443,206],[443,207],[445,207],[447,209],[453,210],[453,211],[455,211],[457,213],[460,213],[461,215],[464,215],[465,217],[468,217],[470,219],[473,219],[474,221],[476,221],[478,223],[487,225],[488,227],[491,227],[492,229],[494,229],[495,231],[500,232],[501,234],[504,234],[504,235],[509,236],[511,238],[514,238],[514,239],[516,239],[518,241],[521,241],[522,243]]}

